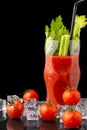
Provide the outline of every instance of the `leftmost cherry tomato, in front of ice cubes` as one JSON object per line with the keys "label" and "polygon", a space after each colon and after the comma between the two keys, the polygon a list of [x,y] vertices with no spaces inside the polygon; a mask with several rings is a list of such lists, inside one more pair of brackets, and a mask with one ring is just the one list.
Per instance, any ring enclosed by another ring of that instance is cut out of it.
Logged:
{"label": "leftmost cherry tomato, in front of ice cubes", "polygon": [[13,99],[7,103],[6,113],[11,118],[19,118],[24,111],[24,104],[18,100]]}

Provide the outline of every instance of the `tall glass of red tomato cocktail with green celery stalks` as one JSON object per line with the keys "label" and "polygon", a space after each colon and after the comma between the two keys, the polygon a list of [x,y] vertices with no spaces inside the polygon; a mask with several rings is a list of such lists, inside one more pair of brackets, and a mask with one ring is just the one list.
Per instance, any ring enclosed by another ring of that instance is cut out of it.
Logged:
{"label": "tall glass of red tomato cocktail with green celery stalks", "polygon": [[65,89],[78,88],[80,32],[86,25],[86,16],[76,15],[72,37],[60,15],[52,19],[49,26],[45,26],[44,81],[47,101],[64,105],[62,94]]}

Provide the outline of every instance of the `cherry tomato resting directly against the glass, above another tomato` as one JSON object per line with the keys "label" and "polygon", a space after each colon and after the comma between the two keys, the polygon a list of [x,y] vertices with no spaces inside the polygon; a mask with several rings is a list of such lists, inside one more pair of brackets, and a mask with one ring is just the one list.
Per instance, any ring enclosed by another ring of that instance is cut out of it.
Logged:
{"label": "cherry tomato resting directly against the glass, above another tomato", "polygon": [[66,105],[77,105],[81,99],[80,92],[76,89],[68,88],[63,92],[63,101]]}

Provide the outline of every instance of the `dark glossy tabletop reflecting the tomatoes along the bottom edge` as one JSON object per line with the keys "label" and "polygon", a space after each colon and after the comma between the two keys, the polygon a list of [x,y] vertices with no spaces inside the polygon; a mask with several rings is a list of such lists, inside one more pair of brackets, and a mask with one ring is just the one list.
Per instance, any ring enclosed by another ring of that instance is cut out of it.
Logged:
{"label": "dark glossy tabletop reflecting the tomatoes along the bottom edge", "polygon": [[[0,111],[0,130],[70,130],[59,119],[54,121],[27,121],[24,118],[10,119],[6,113]],[[73,130],[87,130],[87,120],[83,120],[79,128]]]}

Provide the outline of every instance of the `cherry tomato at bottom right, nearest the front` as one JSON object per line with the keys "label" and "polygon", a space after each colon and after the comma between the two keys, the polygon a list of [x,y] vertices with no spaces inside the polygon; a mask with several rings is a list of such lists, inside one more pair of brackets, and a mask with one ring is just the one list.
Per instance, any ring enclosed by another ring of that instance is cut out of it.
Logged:
{"label": "cherry tomato at bottom right, nearest the front", "polygon": [[82,115],[77,110],[66,110],[62,115],[62,120],[67,128],[77,128],[81,125]]}

